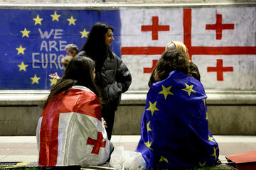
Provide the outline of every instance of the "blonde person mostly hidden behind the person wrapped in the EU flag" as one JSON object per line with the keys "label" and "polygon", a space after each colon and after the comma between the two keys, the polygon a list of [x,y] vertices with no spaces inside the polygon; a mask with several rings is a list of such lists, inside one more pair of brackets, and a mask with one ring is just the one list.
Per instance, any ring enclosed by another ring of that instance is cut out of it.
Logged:
{"label": "blonde person mostly hidden behind the person wrapped in the EU flag", "polygon": [[[188,55],[188,49],[186,47],[186,45],[184,45],[182,42],[179,41],[170,41],[168,42],[168,44],[166,45],[166,50],[174,50],[174,49],[178,49],[181,50],[182,52],[184,52],[184,55],[188,58],[189,60],[189,75],[195,79],[198,79],[198,81],[200,81],[201,76],[198,70],[198,67],[196,66],[196,64],[194,64],[193,62],[191,62],[190,57]],[[152,71],[151,77],[149,79],[149,87],[156,82],[154,80],[154,69]]]}

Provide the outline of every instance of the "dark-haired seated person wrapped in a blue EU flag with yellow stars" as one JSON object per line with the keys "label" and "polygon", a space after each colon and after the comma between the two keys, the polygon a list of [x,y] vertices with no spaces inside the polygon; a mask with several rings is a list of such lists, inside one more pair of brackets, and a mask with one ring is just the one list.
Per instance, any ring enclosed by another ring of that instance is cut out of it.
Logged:
{"label": "dark-haired seated person wrapped in a blue EU flag with yellow stars", "polygon": [[180,50],[164,52],[142,116],[141,152],[147,169],[181,169],[217,164],[218,143],[208,130],[206,92],[188,75]]}

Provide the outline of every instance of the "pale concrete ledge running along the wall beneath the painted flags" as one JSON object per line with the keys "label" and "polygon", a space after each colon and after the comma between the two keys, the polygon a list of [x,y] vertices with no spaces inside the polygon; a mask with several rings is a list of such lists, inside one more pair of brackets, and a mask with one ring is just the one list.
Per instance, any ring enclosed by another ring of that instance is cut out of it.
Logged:
{"label": "pale concrete ledge running along the wall beneath the painted flags", "polygon": [[[145,105],[147,91],[127,91],[120,105]],[[49,91],[2,90],[0,106],[36,106],[43,103]],[[206,90],[208,105],[256,105],[256,91]]]}

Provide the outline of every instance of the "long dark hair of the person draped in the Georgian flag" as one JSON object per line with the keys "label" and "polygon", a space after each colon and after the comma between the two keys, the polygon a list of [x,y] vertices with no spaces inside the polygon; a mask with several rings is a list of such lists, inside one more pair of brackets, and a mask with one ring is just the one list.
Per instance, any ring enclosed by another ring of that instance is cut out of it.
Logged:
{"label": "long dark hair of the person draped in the Georgian flag", "polygon": [[94,68],[95,62],[93,62],[89,57],[73,57],[73,59],[68,63],[68,67],[65,69],[63,77],[61,77],[60,81],[50,89],[50,94],[44,103],[43,108],[46,108],[50,100],[54,101],[57,94],[65,91],[63,94],[63,96],[65,96],[68,89],[74,85],[86,86],[97,95],[97,88],[92,77]]}

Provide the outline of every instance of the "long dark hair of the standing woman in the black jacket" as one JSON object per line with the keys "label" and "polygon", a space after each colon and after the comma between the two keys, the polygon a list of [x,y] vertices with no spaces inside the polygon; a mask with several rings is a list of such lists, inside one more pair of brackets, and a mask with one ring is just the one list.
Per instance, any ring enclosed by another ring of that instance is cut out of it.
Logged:
{"label": "long dark hair of the standing woman in the black jacket", "polygon": [[80,51],[85,51],[87,55],[90,55],[92,60],[95,60],[96,69],[102,67],[107,53],[110,53],[112,57],[110,47],[105,44],[105,34],[109,29],[114,32],[114,29],[106,23],[95,23],[88,34],[85,44],[80,49]]}

